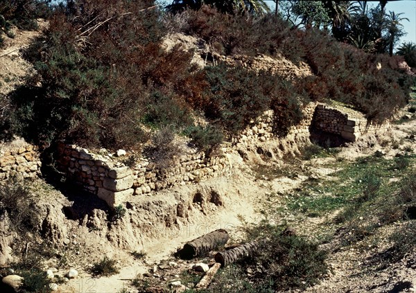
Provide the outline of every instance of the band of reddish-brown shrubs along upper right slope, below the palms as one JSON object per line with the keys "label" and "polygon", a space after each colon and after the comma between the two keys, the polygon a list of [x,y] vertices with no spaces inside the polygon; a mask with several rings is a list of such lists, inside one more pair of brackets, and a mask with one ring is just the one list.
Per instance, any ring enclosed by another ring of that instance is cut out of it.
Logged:
{"label": "band of reddish-brown shrubs along upper right slope, below the palms", "polygon": [[[314,76],[295,81],[298,94],[353,105],[375,122],[391,118],[408,99],[411,78],[399,68],[399,58],[364,53],[337,42],[326,31],[291,30],[290,24],[272,15],[231,16],[207,7],[175,15],[170,26],[201,37],[220,54],[281,52],[295,64],[304,61]],[[378,63],[381,69],[376,69]]]}

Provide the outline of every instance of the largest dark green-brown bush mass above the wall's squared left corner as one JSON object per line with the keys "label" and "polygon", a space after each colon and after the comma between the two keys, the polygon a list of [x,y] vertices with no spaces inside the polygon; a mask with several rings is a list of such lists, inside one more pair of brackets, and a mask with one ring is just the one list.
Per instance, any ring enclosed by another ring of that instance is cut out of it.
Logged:
{"label": "largest dark green-brown bush mass above the wall's squared left corner", "polygon": [[[58,10],[26,51],[37,75],[11,97],[9,132],[42,146],[64,139],[117,149],[146,141],[144,125],[187,124],[182,100],[195,90],[183,87],[195,71],[191,55],[162,50],[164,28],[149,6],[153,1],[94,0]],[[109,17],[87,39],[80,36]],[[33,86],[39,80],[42,87]]]}

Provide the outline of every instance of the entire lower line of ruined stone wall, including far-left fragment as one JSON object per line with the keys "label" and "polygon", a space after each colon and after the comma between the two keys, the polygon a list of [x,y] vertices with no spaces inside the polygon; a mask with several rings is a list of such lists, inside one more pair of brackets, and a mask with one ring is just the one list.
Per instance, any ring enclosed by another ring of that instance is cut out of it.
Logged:
{"label": "entire lower line of ruined stone wall, including far-left fragment", "polygon": [[[68,181],[78,184],[89,193],[105,200],[109,206],[118,206],[133,195],[150,195],[154,191],[197,183],[210,177],[224,175],[232,168],[229,156],[237,151],[248,158],[256,153],[270,158],[281,158],[297,153],[302,145],[310,143],[310,127],[343,136],[355,141],[366,132],[385,129],[388,124],[376,127],[363,118],[344,113],[327,105],[309,103],[303,108],[303,120],[288,130],[284,137],[273,134],[272,111],[250,123],[239,136],[225,143],[218,157],[205,157],[205,153],[189,150],[175,165],[161,170],[145,157],[135,159],[133,166],[125,165],[128,154],[118,157],[107,150],[93,152],[76,145],[58,144],[58,169]],[[0,180],[12,174],[35,177],[40,173],[39,154],[31,145],[19,148],[0,149]],[[124,161],[123,161],[124,159]]]}

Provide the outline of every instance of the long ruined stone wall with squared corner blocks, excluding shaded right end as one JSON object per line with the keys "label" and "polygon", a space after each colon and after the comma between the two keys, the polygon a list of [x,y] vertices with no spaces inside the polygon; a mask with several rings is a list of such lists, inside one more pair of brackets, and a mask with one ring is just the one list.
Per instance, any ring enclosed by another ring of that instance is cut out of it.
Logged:
{"label": "long ruined stone wall with squared corner blocks, excluding shaded right end", "polygon": [[[286,138],[281,139],[281,143],[293,143],[295,136],[309,136],[314,108],[313,103],[304,108],[304,120],[299,125],[291,127]],[[133,195],[146,195],[153,191],[193,184],[223,175],[232,168],[228,156],[236,144],[238,147],[248,141],[267,143],[275,140],[272,134],[272,112],[266,112],[262,118],[253,121],[252,126],[248,127],[239,139],[225,143],[220,156],[207,158],[204,152],[193,151],[179,157],[175,166],[167,170],[160,170],[155,163],[144,157],[136,159],[134,166],[128,167],[123,163],[123,157],[117,158],[107,150],[92,152],[64,143],[58,145],[58,163],[60,170],[70,181],[82,186],[89,193],[98,195],[109,206],[114,207],[123,204]],[[284,148],[286,147],[282,147],[281,150]]]}

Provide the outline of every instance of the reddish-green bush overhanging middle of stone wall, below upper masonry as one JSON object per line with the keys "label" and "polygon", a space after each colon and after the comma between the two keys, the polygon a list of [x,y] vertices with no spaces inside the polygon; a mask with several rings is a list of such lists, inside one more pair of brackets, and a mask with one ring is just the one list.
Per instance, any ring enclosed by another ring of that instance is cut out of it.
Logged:
{"label": "reddish-green bush overhanging middle of stone wall, below upper masonry", "polygon": [[210,89],[205,116],[236,136],[267,109],[275,113],[273,132],[286,133],[288,127],[302,118],[300,101],[289,82],[268,71],[258,73],[239,64],[207,68]]}

